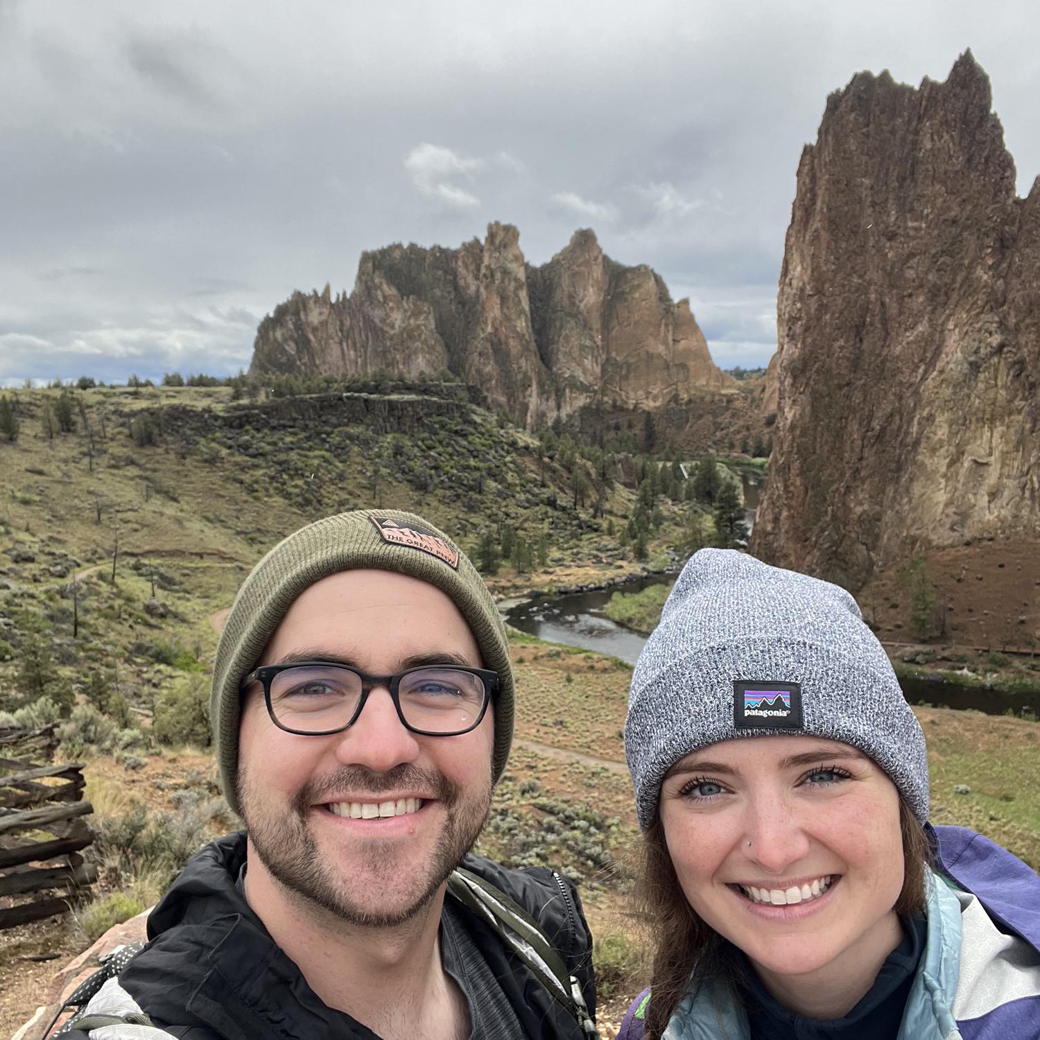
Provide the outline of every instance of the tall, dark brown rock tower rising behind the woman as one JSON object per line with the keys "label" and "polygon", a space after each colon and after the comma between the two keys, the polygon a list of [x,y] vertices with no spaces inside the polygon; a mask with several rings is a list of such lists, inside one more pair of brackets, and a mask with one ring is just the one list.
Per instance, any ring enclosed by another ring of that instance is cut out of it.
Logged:
{"label": "tall, dark brown rock tower rising behind the woman", "polygon": [[970,52],[944,83],[861,73],[828,99],[780,276],[764,560],[856,589],[1040,534],[1040,178],[1015,197],[990,102]]}

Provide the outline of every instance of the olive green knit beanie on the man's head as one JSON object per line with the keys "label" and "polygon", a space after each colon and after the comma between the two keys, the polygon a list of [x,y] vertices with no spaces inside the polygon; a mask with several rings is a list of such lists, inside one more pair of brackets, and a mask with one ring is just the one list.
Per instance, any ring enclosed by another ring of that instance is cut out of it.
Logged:
{"label": "olive green knit beanie on the man's head", "polygon": [[421,517],[396,510],[360,510],[326,517],[280,542],[253,568],[235,596],[213,665],[210,719],[224,795],[238,804],[238,722],[242,679],[257,667],[293,600],[322,578],[363,568],[427,581],[454,601],[487,668],[501,687],[494,702],[497,781],[513,743],[513,671],[505,626],[476,568],[447,536]]}

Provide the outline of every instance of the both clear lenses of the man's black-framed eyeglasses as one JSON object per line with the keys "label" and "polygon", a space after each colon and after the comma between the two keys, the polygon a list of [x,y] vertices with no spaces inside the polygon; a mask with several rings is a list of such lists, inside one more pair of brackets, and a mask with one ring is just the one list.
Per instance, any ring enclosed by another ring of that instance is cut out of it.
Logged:
{"label": "both clear lenses of the man's black-framed eyeglasses", "polygon": [[[336,666],[302,665],[270,681],[270,708],[280,726],[320,733],[346,726],[361,700],[361,676]],[[397,688],[409,726],[427,733],[463,733],[484,707],[484,680],[452,668],[406,672]]]}

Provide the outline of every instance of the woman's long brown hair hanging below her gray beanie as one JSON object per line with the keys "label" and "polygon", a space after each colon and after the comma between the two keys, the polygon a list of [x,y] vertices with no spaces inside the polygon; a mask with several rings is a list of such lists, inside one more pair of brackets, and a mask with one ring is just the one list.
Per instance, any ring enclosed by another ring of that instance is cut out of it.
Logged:
{"label": "woman's long brown hair hanging below her gray beanie", "polygon": [[[900,799],[903,835],[903,888],[892,908],[901,917],[925,909],[926,878],[931,862],[928,835]],[[653,936],[650,1004],[646,1013],[646,1040],[660,1040],[669,1019],[690,989],[693,974],[718,979],[739,999],[739,966],[718,932],[706,925],[686,900],[676,877],[665,840],[660,814],[644,835],[643,869],[636,894],[641,916]]]}

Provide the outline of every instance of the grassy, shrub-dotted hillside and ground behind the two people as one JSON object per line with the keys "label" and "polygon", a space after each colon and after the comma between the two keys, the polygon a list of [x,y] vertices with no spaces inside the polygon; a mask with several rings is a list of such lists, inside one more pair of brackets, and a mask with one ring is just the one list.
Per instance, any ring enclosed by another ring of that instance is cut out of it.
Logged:
{"label": "grassy, shrub-dotted hillside and ground behind the two people", "polygon": [[[602,583],[713,534],[677,466],[534,438],[457,385],[257,400],[92,389],[63,433],[58,397],[18,391],[18,439],[0,442],[0,725],[60,722],[59,754],[86,763],[100,883],[74,916],[0,933],[0,1033],[42,999],[53,968],[26,958],[83,948],[234,826],[206,746],[207,670],[222,612],[285,534],[344,509],[414,509],[490,565],[500,592]],[[643,979],[626,903],[630,670],[519,635],[513,653],[517,739],[480,849],[581,884],[609,1015]],[[1040,727],[919,714],[936,818],[1040,864]]]}

